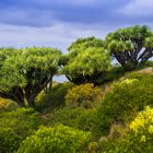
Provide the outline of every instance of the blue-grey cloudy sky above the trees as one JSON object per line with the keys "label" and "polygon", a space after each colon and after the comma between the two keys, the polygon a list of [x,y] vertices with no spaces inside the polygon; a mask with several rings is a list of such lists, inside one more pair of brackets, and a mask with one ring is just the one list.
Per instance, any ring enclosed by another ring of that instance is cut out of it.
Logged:
{"label": "blue-grey cloudy sky above the trees", "polygon": [[152,0],[0,0],[0,46],[51,46],[66,51],[79,37],[146,24]]}

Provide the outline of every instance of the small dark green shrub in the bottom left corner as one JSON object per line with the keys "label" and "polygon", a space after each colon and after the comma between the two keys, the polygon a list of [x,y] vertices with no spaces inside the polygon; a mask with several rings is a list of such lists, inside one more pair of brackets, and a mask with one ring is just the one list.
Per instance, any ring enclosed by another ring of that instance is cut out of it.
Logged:
{"label": "small dark green shrub in the bottom left corner", "polygon": [[0,153],[12,153],[20,148],[21,138],[10,128],[0,129]]}

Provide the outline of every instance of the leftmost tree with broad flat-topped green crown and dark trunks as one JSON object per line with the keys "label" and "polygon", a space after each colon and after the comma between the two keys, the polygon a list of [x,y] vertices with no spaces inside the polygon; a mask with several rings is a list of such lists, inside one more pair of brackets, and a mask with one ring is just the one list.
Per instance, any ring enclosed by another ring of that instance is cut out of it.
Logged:
{"label": "leftmost tree with broad flat-topped green crown and dark trunks", "polygon": [[[19,105],[35,106],[36,96],[52,81],[57,73],[60,51],[52,48],[0,50],[0,96]],[[50,85],[51,86],[51,85]]]}

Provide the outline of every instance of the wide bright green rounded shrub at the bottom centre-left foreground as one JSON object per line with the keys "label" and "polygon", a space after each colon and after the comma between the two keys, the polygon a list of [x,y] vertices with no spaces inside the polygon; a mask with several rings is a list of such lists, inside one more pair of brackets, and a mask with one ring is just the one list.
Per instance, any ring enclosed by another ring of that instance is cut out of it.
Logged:
{"label": "wide bright green rounded shrub at the bottom centre-left foreground", "polygon": [[59,125],[42,127],[27,138],[17,153],[74,153],[84,152],[90,142],[90,133]]}

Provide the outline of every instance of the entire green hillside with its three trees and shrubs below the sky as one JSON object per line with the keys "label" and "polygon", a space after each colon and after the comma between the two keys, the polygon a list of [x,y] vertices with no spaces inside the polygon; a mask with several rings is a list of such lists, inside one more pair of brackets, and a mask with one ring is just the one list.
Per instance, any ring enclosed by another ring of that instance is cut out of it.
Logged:
{"label": "entire green hillside with its three trees and shrubs below the sky", "polygon": [[152,153],[152,58],[148,26],[79,38],[66,55],[0,48],[0,153]]}

